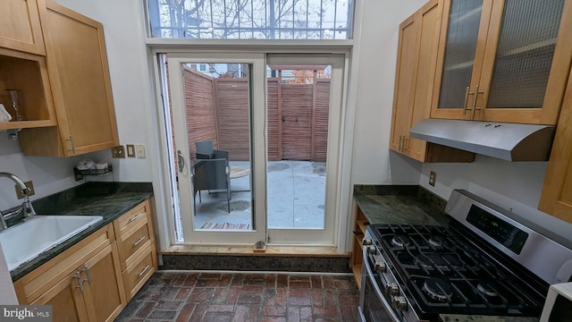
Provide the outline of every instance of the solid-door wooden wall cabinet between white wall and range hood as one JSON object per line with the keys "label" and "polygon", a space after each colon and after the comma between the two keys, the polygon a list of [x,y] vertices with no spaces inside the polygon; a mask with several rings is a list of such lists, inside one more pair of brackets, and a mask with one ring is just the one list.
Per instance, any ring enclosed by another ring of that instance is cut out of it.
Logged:
{"label": "solid-door wooden wall cabinet between white wall and range hood", "polygon": [[472,162],[473,153],[409,137],[431,113],[441,17],[442,1],[433,0],[400,24],[390,148],[421,162]]}

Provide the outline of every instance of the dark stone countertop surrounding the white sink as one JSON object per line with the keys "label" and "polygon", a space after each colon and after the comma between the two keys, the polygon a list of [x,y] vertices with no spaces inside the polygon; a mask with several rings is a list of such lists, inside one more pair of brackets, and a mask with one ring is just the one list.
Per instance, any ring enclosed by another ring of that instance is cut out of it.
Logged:
{"label": "dark stone countertop surrounding the white sink", "polygon": [[[87,182],[80,186],[57,192],[42,199],[33,200],[38,215],[97,215],[103,221],[90,226],[71,239],[38,255],[10,272],[15,282],[23,275],[55,258],[89,234],[113,222],[119,216],[153,196],[150,182]],[[8,246],[9,247],[9,246]]]}

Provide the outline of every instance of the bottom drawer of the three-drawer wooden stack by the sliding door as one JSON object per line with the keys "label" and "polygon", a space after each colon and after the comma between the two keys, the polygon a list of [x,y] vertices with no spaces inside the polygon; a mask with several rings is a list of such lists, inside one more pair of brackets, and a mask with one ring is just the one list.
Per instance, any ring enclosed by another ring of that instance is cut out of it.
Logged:
{"label": "bottom drawer of the three-drawer wooden stack by the sliding door", "polygon": [[136,261],[131,264],[123,272],[123,280],[125,282],[125,294],[128,301],[139,291],[139,289],[147,282],[147,279],[156,271],[156,250],[155,247],[147,248],[147,251],[141,254]]}

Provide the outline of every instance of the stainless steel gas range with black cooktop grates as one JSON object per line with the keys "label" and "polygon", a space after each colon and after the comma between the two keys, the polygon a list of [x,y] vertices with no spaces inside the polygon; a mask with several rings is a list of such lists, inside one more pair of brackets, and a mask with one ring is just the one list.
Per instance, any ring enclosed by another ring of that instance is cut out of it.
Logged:
{"label": "stainless steel gas range with black cooktop grates", "polygon": [[369,225],[360,313],[365,321],[440,314],[539,317],[550,284],[572,277],[572,250],[453,191],[450,226]]}

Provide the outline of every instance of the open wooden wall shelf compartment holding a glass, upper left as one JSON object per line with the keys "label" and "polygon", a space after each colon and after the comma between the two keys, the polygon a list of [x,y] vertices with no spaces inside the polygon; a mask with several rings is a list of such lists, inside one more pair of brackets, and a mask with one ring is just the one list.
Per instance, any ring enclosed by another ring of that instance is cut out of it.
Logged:
{"label": "open wooden wall shelf compartment holding a glass, upper left", "polygon": [[[0,47],[0,103],[12,114],[11,122],[0,122],[0,131],[55,126],[51,93],[45,56]],[[21,120],[13,109],[13,98]]]}

